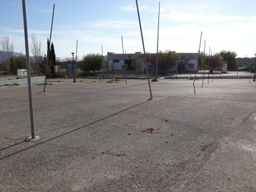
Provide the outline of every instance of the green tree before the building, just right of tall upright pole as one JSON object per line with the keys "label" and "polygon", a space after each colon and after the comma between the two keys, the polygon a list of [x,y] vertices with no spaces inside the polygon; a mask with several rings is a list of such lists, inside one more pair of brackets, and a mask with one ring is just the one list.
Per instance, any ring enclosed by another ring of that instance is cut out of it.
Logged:
{"label": "green tree before the building, just right of tall upright pole", "polygon": [[171,52],[170,50],[166,52],[158,53],[158,69],[162,75],[165,75],[170,68],[178,63],[180,60],[179,54]]}

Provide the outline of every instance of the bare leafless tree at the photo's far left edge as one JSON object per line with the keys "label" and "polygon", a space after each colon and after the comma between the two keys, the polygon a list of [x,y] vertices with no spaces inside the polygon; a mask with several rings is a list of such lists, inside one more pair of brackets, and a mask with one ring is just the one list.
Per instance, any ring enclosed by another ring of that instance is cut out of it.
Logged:
{"label": "bare leafless tree at the photo's far left edge", "polygon": [[13,41],[9,41],[9,36],[1,36],[0,37],[0,46],[3,57],[3,62],[1,64],[2,69],[5,71],[10,70],[10,62],[11,58],[13,57],[14,47],[13,47]]}

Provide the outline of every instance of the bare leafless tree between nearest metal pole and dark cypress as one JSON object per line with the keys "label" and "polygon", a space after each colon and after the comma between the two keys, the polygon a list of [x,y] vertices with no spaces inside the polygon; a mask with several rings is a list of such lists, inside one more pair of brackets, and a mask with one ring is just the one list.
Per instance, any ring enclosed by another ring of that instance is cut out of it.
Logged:
{"label": "bare leafless tree between nearest metal pole and dark cypress", "polygon": [[32,39],[32,45],[31,45],[31,52],[34,56],[34,61],[36,62],[36,67],[37,67],[37,71],[38,74],[40,73],[40,62],[42,61],[42,50],[41,50],[41,41],[38,40],[38,38],[36,37],[36,35],[34,33],[32,33],[31,36]]}

